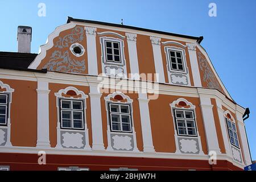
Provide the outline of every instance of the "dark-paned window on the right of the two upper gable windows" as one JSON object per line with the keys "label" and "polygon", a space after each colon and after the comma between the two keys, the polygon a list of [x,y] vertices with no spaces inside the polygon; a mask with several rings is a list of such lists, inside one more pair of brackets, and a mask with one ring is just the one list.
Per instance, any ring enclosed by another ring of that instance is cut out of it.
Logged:
{"label": "dark-paned window on the right of the two upper gable windows", "polygon": [[170,50],[169,55],[171,61],[171,69],[175,71],[184,71],[182,52]]}

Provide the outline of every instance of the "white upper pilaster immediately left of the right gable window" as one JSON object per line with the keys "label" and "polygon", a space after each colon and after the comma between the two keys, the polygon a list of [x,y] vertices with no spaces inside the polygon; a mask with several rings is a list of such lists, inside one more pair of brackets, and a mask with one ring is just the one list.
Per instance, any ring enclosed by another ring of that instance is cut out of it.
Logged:
{"label": "white upper pilaster immediately left of the right gable window", "polygon": [[155,61],[155,72],[158,74],[158,82],[165,83],[166,80],[164,79],[164,69],[163,69],[163,59],[161,53],[161,38],[156,38],[154,36],[150,37],[152,47],[153,47],[153,54],[154,54],[154,61]]}

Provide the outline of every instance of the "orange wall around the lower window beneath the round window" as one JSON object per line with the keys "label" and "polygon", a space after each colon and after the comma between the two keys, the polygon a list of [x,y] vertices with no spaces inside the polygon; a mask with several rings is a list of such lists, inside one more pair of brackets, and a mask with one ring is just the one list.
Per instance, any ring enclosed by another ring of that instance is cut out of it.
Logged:
{"label": "orange wall around the lower window beneath the round window", "polygon": [[[88,86],[78,86],[78,85],[65,85],[65,84],[53,84],[49,83],[49,90],[51,92],[49,93],[49,140],[51,147],[55,147],[57,144],[57,105],[56,105],[56,96],[55,93],[59,92],[60,89],[65,89],[68,86],[73,86],[82,92],[84,92],[86,95],[89,93],[89,87]],[[88,127],[89,132],[89,144],[92,146],[92,125],[90,120],[90,101],[89,98],[86,98],[86,123]]]}

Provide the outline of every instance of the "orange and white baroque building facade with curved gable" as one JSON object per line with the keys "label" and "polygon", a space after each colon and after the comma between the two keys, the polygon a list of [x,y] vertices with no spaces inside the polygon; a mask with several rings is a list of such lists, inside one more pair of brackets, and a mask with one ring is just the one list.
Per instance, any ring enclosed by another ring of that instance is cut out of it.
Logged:
{"label": "orange and white baroque building facade with curved gable", "polygon": [[242,170],[245,109],[202,40],[69,17],[38,55],[1,52],[0,169]]}

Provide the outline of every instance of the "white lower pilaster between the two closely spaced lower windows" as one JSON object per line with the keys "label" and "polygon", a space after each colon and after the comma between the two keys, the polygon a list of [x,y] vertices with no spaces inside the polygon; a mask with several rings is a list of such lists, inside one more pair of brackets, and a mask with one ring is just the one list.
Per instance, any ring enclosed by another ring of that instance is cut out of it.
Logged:
{"label": "white lower pilaster between the two closely spaced lower windows", "polygon": [[102,134],[101,93],[97,84],[90,84],[90,111],[92,119],[92,150],[105,150]]}

